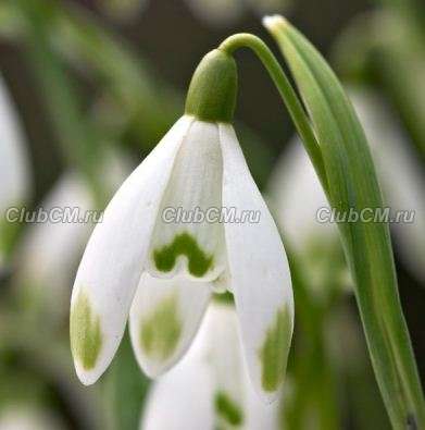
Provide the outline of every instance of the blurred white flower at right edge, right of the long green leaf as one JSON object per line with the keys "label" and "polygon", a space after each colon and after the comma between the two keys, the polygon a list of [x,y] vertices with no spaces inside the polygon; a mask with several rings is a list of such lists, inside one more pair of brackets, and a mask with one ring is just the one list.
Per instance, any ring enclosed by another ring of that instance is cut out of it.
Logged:
{"label": "blurred white flower at right edge, right of the long green leaf", "polygon": [[350,97],[362,121],[380,180],[384,201],[397,210],[413,210],[412,223],[392,223],[396,253],[425,281],[425,174],[399,121],[377,94],[353,90]]}

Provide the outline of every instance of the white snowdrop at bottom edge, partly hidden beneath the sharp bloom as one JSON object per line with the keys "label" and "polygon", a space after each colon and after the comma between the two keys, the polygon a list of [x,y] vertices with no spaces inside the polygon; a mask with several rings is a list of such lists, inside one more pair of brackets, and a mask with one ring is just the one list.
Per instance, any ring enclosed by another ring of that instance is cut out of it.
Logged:
{"label": "white snowdrop at bottom edge, partly hidden beneath the sharp bloom", "polygon": [[212,304],[187,355],[153,384],[140,430],[280,429],[280,402],[258,402],[238,337],[234,308]]}

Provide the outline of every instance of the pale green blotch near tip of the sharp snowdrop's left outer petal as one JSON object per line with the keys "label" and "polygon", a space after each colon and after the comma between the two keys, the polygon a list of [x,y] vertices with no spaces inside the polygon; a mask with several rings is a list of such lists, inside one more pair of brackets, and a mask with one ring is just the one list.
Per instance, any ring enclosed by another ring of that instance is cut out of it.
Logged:
{"label": "pale green blotch near tip of the sharp snowdrop's left outer petal", "polygon": [[71,349],[85,370],[92,369],[102,347],[100,320],[90,307],[88,296],[83,291],[71,309]]}

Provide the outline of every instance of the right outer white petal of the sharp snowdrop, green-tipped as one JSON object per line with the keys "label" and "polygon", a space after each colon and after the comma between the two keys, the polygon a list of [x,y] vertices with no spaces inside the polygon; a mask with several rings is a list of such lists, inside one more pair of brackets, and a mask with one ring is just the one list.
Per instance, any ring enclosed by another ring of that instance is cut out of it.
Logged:
{"label": "right outer white petal of the sharp snowdrop, green-tipped", "polygon": [[258,223],[226,223],[233,291],[246,359],[257,391],[275,400],[286,368],[293,325],[293,297],[285,249],[248,170],[230,125],[220,125],[223,206],[260,211]]}

